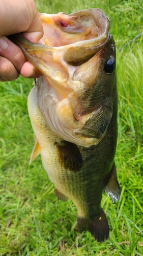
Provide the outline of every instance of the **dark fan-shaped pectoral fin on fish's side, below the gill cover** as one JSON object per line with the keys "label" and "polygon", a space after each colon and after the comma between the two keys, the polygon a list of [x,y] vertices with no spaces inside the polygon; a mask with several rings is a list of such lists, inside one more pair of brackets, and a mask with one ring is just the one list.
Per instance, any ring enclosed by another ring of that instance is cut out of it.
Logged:
{"label": "dark fan-shaped pectoral fin on fish's side, below the gill cover", "polygon": [[73,172],[78,172],[82,167],[83,160],[77,145],[64,140],[62,143],[55,142],[54,145],[58,150],[61,166]]}

